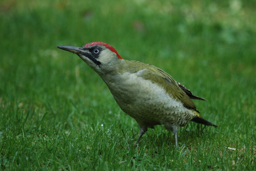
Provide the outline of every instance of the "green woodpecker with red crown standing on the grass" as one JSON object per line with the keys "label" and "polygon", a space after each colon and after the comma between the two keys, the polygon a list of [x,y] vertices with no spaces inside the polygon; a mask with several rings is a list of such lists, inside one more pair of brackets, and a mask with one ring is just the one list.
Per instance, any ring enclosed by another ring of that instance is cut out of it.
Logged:
{"label": "green woodpecker with red crown standing on the grass", "polygon": [[92,42],[81,47],[57,46],[77,54],[107,84],[118,106],[139,125],[137,143],[148,128],[164,125],[175,136],[179,127],[194,121],[214,126],[202,118],[191,99],[204,100],[154,65],[125,60],[109,44]]}

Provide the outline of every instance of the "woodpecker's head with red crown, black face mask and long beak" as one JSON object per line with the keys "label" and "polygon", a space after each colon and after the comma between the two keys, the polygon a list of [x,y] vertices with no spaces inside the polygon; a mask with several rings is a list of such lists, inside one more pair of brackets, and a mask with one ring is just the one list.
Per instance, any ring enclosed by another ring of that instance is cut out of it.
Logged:
{"label": "woodpecker's head with red crown, black face mask and long beak", "polygon": [[76,53],[85,63],[98,74],[110,70],[121,56],[107,43],[93,42],[81,48],[75,46],[57,46],[57,48]]}

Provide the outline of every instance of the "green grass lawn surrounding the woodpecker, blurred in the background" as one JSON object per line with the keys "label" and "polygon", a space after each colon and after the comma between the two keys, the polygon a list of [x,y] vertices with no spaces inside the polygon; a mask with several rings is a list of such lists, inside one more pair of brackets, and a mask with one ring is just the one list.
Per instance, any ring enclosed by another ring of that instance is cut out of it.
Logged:
{"label": "green grass lawn surrounding the woodpecker, blurred in the background", "polygon": [[[254,1],[1,1],[0,170],[255,170]],[[175,150],[163,126],[139,149],[136,121],[57,45],[102,41],[200,97]]]}

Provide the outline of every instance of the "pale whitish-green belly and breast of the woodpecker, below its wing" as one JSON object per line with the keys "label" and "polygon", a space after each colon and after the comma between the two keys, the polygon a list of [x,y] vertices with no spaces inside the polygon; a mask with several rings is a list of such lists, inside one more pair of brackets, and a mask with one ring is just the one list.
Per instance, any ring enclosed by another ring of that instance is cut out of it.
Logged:
{"label": "pale whitish-green belly and breast of the woodpecker, below its wing", "polygon": [[[180,101],[173,99],[166,91],[150,80],[135,73],[106,82],[119,107],[137,122],[159,125],[184,120],[189,112]],[[192,118],[191,118],[192,119]]]}

